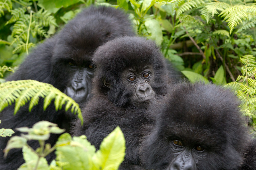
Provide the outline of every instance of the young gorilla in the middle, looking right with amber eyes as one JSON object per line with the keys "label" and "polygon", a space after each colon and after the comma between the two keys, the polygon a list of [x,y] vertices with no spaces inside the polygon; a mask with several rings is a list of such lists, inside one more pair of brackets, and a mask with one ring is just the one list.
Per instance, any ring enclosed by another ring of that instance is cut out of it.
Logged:
{"label": "young gorilla in the middle, looking right with amber eyes", "polygon": [[78,120],[73,135],[86,135],[99,149],[103,138],[119,126],[126,140],[120,169],[142,169],[139,139],[153,121],[146,114],[147,107],[166,94],[172,82],[166,60],[153,41],[128,36],[103,44],[92,60],[96,66],[93,97],[82,109],[84,125]]}

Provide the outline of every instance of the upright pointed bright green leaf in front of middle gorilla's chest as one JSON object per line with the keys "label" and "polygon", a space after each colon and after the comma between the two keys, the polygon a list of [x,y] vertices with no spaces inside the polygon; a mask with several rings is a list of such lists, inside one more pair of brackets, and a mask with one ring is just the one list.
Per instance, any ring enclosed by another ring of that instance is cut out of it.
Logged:
{"label": "upright pointed bright green leaf in front of middle gorilla's chest", "polygon": [[124,156],[125,138],[120,127],[117,127],[104,138],[100,150],[93,157],[93,161],[102,170],[116,170],[124,160]]}

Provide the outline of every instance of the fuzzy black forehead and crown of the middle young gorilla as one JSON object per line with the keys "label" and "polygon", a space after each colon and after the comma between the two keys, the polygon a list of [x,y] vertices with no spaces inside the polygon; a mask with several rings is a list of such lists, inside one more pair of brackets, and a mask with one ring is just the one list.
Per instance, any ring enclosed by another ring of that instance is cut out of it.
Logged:
{"label": "fuzzy black forehead and crown of the middle young gorilla", "polygon": [[[104,71],[119,73],[126,68],[142,70],[146,65],[153,70],[165,68],[164,57],[151,40],[142,37],[120,37],[97,49],[93,63]],[[116,68],[115,66],[119,66]],[[123,68],[121,68],[123,66]]]}

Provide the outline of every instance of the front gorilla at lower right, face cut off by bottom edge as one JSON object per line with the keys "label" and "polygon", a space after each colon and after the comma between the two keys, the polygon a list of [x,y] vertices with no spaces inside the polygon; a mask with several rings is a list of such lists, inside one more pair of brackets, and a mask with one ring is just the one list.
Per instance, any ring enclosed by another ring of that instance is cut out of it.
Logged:
{"label": "front gorilla at lower right, face cut off by bottom edge", "polygon": [[247,153],[252,138],[229,90],[181,83],[160,103],[152,107],[156,126],[140,148],[146,169],[255,169],[255,144]]}

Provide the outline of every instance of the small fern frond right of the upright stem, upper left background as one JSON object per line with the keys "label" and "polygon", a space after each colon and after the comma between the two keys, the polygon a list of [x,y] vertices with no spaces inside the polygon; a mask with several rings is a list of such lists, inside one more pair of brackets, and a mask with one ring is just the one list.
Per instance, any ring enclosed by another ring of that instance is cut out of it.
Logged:
{"label": "small fern frond right of the upright stem, upper left background", "polygon": [[38,25],[40,26],[58,26],[56,23],[56,19],[51,15],[48,11],[43,11],[40,9],[38,12],[34,13],[33,20],[38,21]]}

